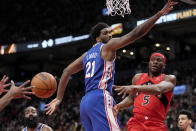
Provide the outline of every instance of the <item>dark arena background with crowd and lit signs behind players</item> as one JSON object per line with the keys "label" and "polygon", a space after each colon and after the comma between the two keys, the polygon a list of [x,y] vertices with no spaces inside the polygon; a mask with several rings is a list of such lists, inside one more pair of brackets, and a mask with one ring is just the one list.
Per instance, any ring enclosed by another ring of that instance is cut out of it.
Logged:
{"label": "dark arena background with crowd and lit signs behind players", "polygon": [[[131,15],[107,16],[105,0],[3,0],[0,1],[0,73],[20,84],[39,72],[53,74],[57,81],[63,69],[91,46],[89,30],[97,22],[117,24],[121,36],[141,20],[159,11],[164,0],[130,0]],[[196,119],[196,6],[179,2],[174,10],[142,39],[117,52],[115,84],[131,84],[135,73],[147,71],[148,57],[162,50],[167,56],[166,73],[175,74],[177,86],[165,123],[178,131],[177,113],[188,109]],[[122,25],[122,26],[121,26]],[[82,131],[79,104],[84,95],[84,73],[70,79],[64,100],[52,116],[40,111],[40,121],[55,131]],[[23,110],[28,105],[43,109],[54,97],[31,101],[14,100],[0,113],[0,130],[23,128]],[[121,98],[114,92],[114,98]],[[132,107],[120,112],[123,130]],[[194,123],[192,125],[194,128]]]}

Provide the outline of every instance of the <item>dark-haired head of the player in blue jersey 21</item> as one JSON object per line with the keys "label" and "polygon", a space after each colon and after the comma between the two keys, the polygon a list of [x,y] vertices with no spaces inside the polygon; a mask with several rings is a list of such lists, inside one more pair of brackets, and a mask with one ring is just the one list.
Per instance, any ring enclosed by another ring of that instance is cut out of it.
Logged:
{"label": "dark-haired head of the player in blue jersey 21", "polygon": [[90,35],[93,43],[107,43],[112,38],[111,30],[106,23],[98,23],[93,26]]}

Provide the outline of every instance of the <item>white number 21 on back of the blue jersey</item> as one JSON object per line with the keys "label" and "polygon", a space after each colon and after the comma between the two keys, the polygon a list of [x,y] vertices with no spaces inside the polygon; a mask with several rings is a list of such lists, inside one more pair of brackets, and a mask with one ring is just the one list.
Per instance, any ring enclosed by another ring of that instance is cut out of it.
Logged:
{"label": "white number 21 on back of the blue jersey", "polygon": [[85,78],[90,78],[93,77],[95,71],[95,61],[93,62],[87,62],[86,63],[86,74]]}

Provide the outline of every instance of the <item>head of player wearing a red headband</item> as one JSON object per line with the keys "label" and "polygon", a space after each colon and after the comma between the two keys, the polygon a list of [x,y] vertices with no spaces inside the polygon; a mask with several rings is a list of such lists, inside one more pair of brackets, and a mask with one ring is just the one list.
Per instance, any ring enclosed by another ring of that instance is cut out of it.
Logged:
{"label": "head of player wearing a red headband", "polygon": [[154,52],[150,56],[149,71],[152,74],[158,75],[162,73],[166,66],[166,58],[162,53]]}

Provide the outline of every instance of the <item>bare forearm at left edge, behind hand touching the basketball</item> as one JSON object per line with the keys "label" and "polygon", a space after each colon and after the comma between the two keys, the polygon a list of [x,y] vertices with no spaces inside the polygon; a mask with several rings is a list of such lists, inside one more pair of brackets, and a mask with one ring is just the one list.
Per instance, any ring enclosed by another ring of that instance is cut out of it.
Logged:
{"label": "bare forearm at left edge, behind hand touching the basketball", "polygon": [[0,99],[0,111],[2,111],[10,103],[13,97],[14,96],[8,92]]}

